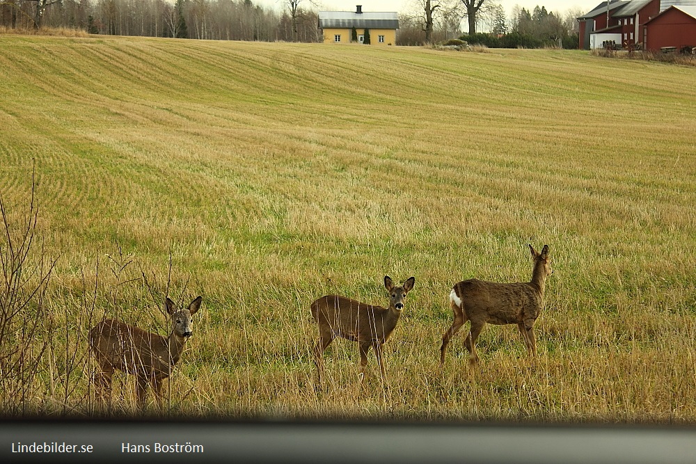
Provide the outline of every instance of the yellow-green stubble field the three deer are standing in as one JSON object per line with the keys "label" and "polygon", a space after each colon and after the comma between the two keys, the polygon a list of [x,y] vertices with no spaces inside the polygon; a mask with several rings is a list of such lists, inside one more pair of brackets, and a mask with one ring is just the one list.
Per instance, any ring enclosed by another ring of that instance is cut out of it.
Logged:
{"label": "yellow-green stubble field the three deer are standing in", "polygon": [[[203,296],[174,416],[695,422],[693,83],[583,51],[0,35],[1,198],[21,223],[34,159],[58,259],[26,411],[93,413],[88,329],[166,335],[168,292]],[[555,270],[538,358],[489,325],[469,369],[465,326],[441,369],[452,285],[529,280],[528,243]],[[384,305],[384,275],[416,278],[389,388],[339,339],[315,391],[310,303]]]}

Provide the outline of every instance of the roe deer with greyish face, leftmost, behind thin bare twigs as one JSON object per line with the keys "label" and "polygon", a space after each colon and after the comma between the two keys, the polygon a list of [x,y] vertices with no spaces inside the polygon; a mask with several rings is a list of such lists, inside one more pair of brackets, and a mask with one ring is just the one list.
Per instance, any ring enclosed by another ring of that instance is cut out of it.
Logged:
{"label": "roe deer with greyish face, leftmost, behind thin bare twigs", "polygon": [[180,310],[169,298],[166,310],[171,314],[172,331],[169,337],[146,332],[116,319],[105,319],[90,330],[90,346],[95,353],[100,372],[97,373],[97,394],[104,399],[104,390],[111,395],[111,376],[114,370],[134,374],[141,410],[145,408],[148,383],[152,384],[157,405],[161,409],[162,381],[168,378],[184,351],[184,344],[193,335],[191,315],[200,307],[198,296],[189,307]]}

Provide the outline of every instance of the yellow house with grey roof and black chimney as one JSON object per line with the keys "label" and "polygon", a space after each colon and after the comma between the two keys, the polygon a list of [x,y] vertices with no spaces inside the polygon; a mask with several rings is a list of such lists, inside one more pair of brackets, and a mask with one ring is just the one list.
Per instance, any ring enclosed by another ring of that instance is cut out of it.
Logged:
{"label": "yellow house with grey roof and black chimney", "polygon": [[363,13],[361,5],[353,11],[319,11],[319,29],[324,33],[324,43],[348,44],[356,30],[358,43],[370,45],[395,45],[396,30],[399,29],[398,13]]}

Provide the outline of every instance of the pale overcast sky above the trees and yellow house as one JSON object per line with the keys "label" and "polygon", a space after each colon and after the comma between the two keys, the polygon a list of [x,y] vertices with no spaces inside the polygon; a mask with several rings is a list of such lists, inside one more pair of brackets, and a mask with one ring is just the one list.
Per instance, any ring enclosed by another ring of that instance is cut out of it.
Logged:
{"label": "pale overcast sky above the trees and yellow house", "polygon": [[[417,0],[316,0],[315,3],[319,6],[317,9],[322,11],[354,11],[356,5],[362,5],[363,11],[397,11],[405,12],[412,10],[413,4]],[[533,10],[535,6],[545,6],[547,11],[557,13],[565,13],[571,8],[580,8],[583,13],[588,13],[595,6],[601,3],[601,0],[489,0],[500,3],[505,8],[505,13],[509,15],[515,5],[522,8]],[[266,0],[262,3],[273,3],[276,6],[283,6],[287,1],[284,0]],[[302,3],[310,4],[310,0],[303,0]],[[300,3],[300,6],[305,6]],[[277,7],[276,7],[277,8]],[[314,9],[314,8],[313,8]]]}

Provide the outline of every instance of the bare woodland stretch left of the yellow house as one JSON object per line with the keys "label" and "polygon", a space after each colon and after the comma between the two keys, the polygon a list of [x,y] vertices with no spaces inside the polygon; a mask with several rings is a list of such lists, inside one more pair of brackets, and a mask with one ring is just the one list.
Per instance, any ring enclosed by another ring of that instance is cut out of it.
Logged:
{"label": "bare woodland stretch left of the yellow house", "polygon": [[[291,0],[288,0],[291,1]],[[209,40],[318,42],[318,14],[251,0],[0,0],[0,26]]]}

